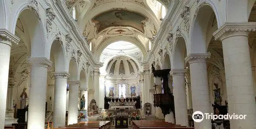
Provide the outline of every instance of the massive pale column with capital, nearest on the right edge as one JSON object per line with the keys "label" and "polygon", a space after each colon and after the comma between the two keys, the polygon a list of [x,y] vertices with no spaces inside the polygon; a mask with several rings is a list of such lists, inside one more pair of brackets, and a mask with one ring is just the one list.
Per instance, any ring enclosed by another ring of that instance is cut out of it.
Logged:
{"label": "massive pale column with capital, nearest on the right edge", "polygon": [[248,34],[256,31],[256,23],[225,23],[214,32],[221,39],[229,114],[247,115],[230,120],[230,129],[256,129],[256,102],[253,87]]}

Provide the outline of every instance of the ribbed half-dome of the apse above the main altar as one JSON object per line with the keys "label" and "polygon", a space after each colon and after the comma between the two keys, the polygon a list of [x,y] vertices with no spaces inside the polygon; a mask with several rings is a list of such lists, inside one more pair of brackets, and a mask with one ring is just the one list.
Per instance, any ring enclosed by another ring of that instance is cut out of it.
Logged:
{"label": "ribbed half-dome of the apse above the main altar", "polygon": [[106,71],[110,76],[136,76],[139,67],[137,63],[128,56],[119,56],[108,62]]}

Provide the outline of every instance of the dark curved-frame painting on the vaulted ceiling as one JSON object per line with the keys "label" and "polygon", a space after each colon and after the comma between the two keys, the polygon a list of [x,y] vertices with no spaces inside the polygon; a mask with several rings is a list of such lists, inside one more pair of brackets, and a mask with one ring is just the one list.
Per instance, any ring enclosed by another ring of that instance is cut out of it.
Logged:
{"label": "dark curved-frame painting on the vaulted ceiling", "polygon": [[143,24],[146,20],[147,18],[139,13],[123,9],[103,12],[92,18],[92,21],[97,26],[97,32],[101,32],[111,26],[129,26],[144,33]]}

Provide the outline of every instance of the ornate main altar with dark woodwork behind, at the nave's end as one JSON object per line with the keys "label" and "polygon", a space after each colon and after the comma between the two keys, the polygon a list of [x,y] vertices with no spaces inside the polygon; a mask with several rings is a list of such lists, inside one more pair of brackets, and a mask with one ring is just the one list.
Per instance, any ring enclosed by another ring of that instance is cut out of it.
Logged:
{"label": "ornate main altar with dark woodwork behind, at the nave's end", "polygon": [[[141,120],[145,116],[142,109],[136,108],[140,102],[140,97],[133,98],[106,98],[105,102],[109,104],[108,109],[103,109],[100,113],[99,120],[111,121],[111,126],[116,129],[128,128],[132,126],[132,120]],[[105,106],[106,107],[106,106]]]}

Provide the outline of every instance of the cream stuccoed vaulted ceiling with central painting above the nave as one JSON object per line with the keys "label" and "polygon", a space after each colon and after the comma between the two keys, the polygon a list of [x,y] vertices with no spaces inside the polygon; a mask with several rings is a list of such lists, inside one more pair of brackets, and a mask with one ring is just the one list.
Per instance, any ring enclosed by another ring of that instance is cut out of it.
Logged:
{"label": "cream stuccoed vaulted ceiling with central painting above the nave", "polygon": [[[66,0],[81,33],[98,50],[104,43],[143,44],[157,34],[169,0]],[[106,45],[107,46],[107,45]]]}

